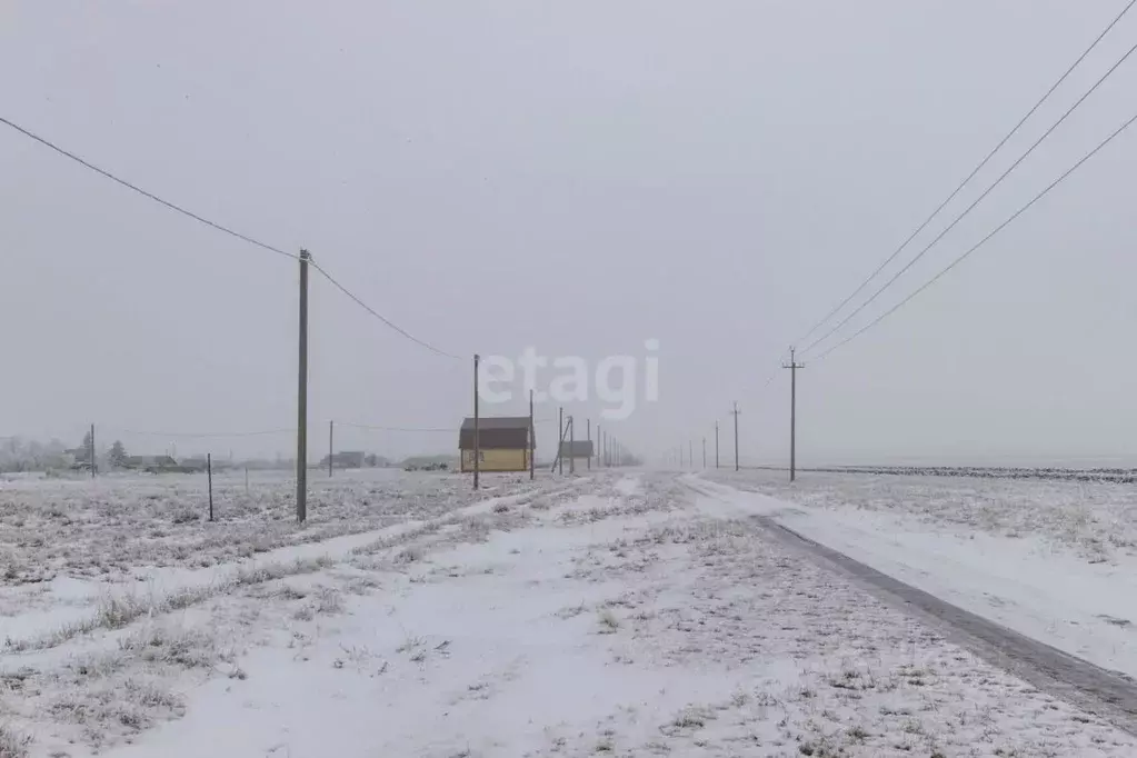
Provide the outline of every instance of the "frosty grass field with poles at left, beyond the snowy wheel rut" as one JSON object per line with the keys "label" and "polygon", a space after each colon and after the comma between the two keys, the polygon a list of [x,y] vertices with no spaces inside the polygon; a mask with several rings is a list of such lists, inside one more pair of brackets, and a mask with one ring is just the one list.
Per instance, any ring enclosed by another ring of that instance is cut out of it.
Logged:
{"label": "frosty grass field with poles at left, beyond the snowy wheel rut", "polygon": [[[252,474],[246,489],[243,472],[215,476],[213,524],[201,474],[2,482],[0,569],[9,583],[39,584],[59,575],[130,574],[139,566],[208,567],[437,516],[473,498],[456,474],[362,469],[327,478],[313,472],[308,523],[298,528],[292,482],[279,473]],[[531,489],[525,475],[487,483],[490,494]]]}

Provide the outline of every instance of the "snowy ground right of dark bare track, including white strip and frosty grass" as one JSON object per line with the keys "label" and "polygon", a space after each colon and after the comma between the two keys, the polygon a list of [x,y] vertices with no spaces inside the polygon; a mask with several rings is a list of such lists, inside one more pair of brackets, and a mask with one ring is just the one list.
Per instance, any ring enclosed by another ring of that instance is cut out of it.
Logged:
{"label": "snowy ground right of dark bare track, including white strip and frosty grass", "polygon": [[755,493],[733,499],[744,513],[772,514],[948,602],[1137,676],[1132,485],[862,474],[805,474],[790,485],[773,472],[703,478]]}

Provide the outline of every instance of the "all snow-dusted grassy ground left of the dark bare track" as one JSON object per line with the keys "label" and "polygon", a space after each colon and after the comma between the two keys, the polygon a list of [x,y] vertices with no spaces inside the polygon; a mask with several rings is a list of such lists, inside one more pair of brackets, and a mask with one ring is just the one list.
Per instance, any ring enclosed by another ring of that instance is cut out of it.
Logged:
{"label": "all snow-dusted grassy ground left of the dark bare track", "polygon": [[[647,472],[490,483],[318,483],[298,530],[287,482],[242,508],[242,478],[225,540],[173,524],[200,511],[192,480],[0,491],[19,566],[0,757],[1137,755],[772,540],[747,517],[762,495]],[[18,544],[33,519],[58,530],[42,552]]]}

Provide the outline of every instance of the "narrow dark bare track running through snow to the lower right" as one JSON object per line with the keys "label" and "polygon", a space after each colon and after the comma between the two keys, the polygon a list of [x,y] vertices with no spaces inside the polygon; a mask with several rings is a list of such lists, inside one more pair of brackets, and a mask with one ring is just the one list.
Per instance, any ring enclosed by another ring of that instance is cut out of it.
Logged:
{"label": "narrow dark bare track running through snow to the lower right", "polygon": [[[687,481],[684,484],[703,497],[721,499],[711,488],[699,486],[705,482]],[[1137,735],[1137,680],[946,602],[811,540],[770,516],[752,515],[750,518],[783,544],[850,576],[881,600],[943,630],[953,642],[987,663]]]}

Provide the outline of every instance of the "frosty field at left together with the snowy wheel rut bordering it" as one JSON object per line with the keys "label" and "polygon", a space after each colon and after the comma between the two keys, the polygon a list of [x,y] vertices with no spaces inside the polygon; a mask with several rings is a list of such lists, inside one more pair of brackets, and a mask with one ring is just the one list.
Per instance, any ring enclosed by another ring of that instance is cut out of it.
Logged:
{"label": "frosty field at left together with the snowy wheel rut bordering it", "polygon": [[[236,565],[291,561],[351,548],[354,534],[414,525],[493,494],[536,491],[528,476],[487,477],[473,493],[458,475],[399,470],[313,476],[308,522],[294,520],[293,484],[276,473],[20,477],[0,484],[0,643],[78,624],[115,598],[152,603],[224,583]],[[366,538],[364,538],[366,539]],[[356,538],[358,540],[358,538]]]}

